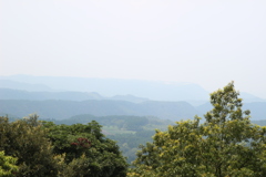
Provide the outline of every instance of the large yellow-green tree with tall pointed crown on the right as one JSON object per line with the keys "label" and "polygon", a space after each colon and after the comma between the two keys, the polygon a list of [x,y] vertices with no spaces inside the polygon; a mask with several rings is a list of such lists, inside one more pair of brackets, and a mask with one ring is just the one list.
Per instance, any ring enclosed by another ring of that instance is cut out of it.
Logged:
{"label": "large yellow-green tree with tall pointed crown on the right", "polygon": [[211,94],[213,110],[203,124],[195,116],[156,131],[129,176],[266,176],[266,127],[250,123],[238,95],[231,82]]}

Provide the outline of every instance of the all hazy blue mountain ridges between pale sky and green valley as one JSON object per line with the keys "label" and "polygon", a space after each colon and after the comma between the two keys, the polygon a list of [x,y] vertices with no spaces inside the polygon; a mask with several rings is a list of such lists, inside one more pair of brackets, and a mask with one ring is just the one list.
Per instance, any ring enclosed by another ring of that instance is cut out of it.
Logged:
{"label": "all hazy blue mountain ridges between pale sky and green valley", "polygon": [[[18,117],[37,113],[42,118],[62,119],[92,114],[180,121],[193,118],[196,114],[202,116],[209,111],[212,106],[207,95],[207,91],[191,83],[0,76],[0,113]],[[244,108],[252,111],[254,119],[266,118],[265,100],[248,93],[241,93],[241,97],[244,98]]]}

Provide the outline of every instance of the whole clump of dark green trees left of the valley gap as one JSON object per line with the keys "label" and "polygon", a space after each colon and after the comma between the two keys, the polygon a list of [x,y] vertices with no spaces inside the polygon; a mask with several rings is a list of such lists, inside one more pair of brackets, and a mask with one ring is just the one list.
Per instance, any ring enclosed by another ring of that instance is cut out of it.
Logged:
{"label": "whole clump of dark green trees left of the valley gap", "polygon": [[[74,125],[40,122],[37,115],[10,123],[0,117],[0,174],[17,177],[124,177],[127,164],[95,121]],[[12,164],[13,163],[13,164]],[[14,165],[18,165],[16,167]]]}

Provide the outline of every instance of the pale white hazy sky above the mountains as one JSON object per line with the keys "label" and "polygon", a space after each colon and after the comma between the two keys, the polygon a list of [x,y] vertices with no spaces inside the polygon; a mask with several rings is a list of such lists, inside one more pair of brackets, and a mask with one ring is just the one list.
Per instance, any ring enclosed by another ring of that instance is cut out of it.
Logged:
{"label": "pale white hazy sky above the mountains", "polygon": [[266,98],[266,0],[0,0],[0,75],[234,80]]}

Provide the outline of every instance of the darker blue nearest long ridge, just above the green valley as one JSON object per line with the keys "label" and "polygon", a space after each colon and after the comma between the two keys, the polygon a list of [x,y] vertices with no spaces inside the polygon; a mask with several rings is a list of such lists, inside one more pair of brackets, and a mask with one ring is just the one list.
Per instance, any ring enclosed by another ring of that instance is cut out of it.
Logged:
{"label": "darker blue nearest long ridge, just above the green valley", "polygon": [[178,121],[192,118],[200,112],[186,102],[147,101],[132,103],[125,101],[24,101],[0,100],[0,113],[23,117],[37,113],[41,118],[63,119],[79,114],[156,116]]}

